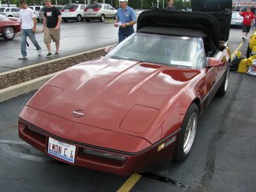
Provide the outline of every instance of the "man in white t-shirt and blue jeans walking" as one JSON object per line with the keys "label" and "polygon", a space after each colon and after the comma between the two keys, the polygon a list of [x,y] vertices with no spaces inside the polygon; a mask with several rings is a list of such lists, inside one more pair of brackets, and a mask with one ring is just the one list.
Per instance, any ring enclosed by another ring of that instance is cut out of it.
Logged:
{"label": "man in white t-shirt and blue jeans walking", "polygon": [[35,32],[37,28],[37,16],[33,12],[33,10],[27,6],[26,0],[20,0],[20,8],[21,9],[19,12],[19,16],[20,16],[20,26],[21,26],[21,32],[20,32],[21,55],[18,58],[19,60],[25,60],[27,59],[26,37],[30,38],[30,40],[32,41],[32,44],[34,44],[34,46],[38,50],[38,56],[42,55],[42,49],[35,37]]}

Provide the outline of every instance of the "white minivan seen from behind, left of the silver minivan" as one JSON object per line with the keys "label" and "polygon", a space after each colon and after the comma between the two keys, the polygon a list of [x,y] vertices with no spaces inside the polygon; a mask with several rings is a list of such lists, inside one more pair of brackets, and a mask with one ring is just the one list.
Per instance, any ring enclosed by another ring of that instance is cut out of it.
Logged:
{"label": "white minivan seen from behind, left of the silver minivan", "polygon": [[84,19],[85,4],[68,3],[61,9],[61,18],[64,22],[68,20],[77,20],[78,22]]}

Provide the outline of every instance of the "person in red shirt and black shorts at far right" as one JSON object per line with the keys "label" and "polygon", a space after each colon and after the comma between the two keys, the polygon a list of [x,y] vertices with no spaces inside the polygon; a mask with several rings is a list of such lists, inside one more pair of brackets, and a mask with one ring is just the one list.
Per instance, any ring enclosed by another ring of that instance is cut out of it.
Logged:
{"label": "person in red shirt and black shorts at far right", "polygon": [[251,7],[247,7],[246,12],[239,12],[239,15],[243,17],[242,20],[242,40],[247,40],[247,34],[250,32],[252,22],[255,19],[255,15],[251,12]]}

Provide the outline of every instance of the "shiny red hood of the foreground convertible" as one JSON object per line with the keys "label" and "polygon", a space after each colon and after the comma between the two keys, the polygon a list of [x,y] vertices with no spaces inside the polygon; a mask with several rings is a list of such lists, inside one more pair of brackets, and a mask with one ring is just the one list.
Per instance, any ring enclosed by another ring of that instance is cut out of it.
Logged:
{"label": "shiny red hood of the foreground convertible", "polygon": [[[79,124],[150,140],[166,106],[188,94],[200,70],[102,58],[59,73],[27,106]],[[177,110],[177,109],[176,109]]]}

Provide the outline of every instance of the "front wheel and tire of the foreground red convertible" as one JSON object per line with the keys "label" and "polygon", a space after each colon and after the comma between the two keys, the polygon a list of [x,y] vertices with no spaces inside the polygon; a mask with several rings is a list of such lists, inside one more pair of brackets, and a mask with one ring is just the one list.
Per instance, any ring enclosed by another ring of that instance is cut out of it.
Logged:
{"label": "front wheel and tire of the foreground red convertible", "polygon": [[195,103],[192,103],[183,119],[181,131],[177,135],[177,146],[173,156],[176,162],[181,162],[189,156],[195,141],[198,115],[199,109]]}

